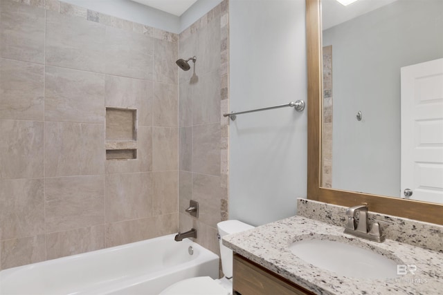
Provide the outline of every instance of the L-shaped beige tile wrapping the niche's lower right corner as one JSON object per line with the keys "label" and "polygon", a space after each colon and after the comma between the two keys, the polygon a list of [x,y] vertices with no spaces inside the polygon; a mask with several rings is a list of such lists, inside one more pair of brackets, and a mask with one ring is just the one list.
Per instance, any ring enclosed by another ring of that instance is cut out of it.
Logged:
{"label": "L-shaped beige tile wrapping the niche's lower right corner", "polygon": [[137,158],[134,160],[107,160],[106,173],[152,171],[152,127],[138,126]]}

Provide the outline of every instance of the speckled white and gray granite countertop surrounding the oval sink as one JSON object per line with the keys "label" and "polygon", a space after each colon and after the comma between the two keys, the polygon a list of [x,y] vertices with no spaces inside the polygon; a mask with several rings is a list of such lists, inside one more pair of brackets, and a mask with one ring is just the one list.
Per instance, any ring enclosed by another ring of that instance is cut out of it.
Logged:
{"label": "speckled white and gray granite countertop surrounding the oval sink", "polygon": [[[372,242],[343,234],[343,227],[303,216],[225,236],[223,244],[237,254],[287,278],[316,294],[442,294],[443,254],[403,242]],[[358,244],[393,258],[399,264],[415,265],[415,274],[389,279],[350,278],[310,265],[292,254],[288,245],[296,240],[336,239]]]}

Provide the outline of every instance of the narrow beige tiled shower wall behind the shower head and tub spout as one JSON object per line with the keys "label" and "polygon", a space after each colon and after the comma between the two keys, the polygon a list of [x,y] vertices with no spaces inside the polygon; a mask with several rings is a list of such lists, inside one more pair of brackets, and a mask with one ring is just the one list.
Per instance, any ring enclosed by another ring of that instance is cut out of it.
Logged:
{"label": "narrow beige tiled shower wall behind the shower head and tub spout", "polygon": [[[228,218],[228,0],[179,35],[179,229],[219,254],[217,222]],[[199,202],[199,218],[185,209]]]}

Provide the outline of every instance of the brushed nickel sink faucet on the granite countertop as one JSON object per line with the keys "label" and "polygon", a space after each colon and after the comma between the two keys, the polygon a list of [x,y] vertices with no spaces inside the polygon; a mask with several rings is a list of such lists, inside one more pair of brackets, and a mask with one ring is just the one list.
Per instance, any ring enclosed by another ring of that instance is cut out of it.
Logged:
{"label": "brushed nickel sink faucet on the granite countertop", "polygon": [[[357,212],[359,212],[359,222],[356,221]],[[379,222],[372,222],[372,224],[369,225],[367,205],[362,204],[347,208],[346,216],[345,234],[351,234],[376,242],[383,242],[383,240],[385,240],[384,234],[381,233]]]}

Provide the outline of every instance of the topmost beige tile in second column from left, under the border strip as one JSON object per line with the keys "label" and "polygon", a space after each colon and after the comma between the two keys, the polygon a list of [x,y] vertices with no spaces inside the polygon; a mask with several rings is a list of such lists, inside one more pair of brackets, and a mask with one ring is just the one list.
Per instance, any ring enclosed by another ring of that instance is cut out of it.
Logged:
{"label": "topmost beige tile in second column from left, under the border strip", "polygon": [[80,17],[46,12],[46,64],[105,72],[105,26]]}

